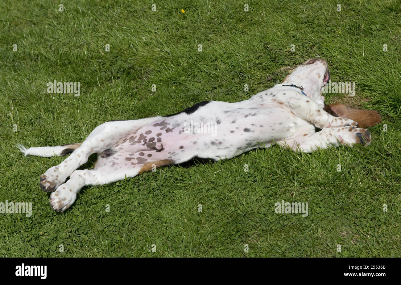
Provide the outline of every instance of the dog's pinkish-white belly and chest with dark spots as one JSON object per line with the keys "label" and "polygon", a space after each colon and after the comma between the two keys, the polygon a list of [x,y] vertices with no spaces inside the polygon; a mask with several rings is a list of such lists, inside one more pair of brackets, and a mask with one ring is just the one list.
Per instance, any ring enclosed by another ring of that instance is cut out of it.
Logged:
{"label": "dog's pinkish-white belly and chest with dark spots", "polygon": [[281,106],[239,103],[212,101],[191,114],[161,118],[129,134],[116,149],[134,165],[194,157],[220,160],[314,132],[312,124]]}

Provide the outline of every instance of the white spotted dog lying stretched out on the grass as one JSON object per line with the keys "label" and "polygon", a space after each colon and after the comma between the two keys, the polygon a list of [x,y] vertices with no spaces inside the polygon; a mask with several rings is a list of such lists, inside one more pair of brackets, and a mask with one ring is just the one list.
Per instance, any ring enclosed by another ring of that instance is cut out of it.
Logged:
{"label": "white spotted dog lying stretched out on the grass", "polygon": [[[321,90],[329,78],[327,62],[314,58],[281,84],[245,101],[204,101],[168,116],[112,120],[97,126],[82,143],[18,147],[25,156],[71,154],[41,175],[39,183],[43,191],[52,192],[51,207],[63,212],[84,185],[103,185],[194,158],[231,159],[274,144],[305,153],[339,145],[368,146],[371,134],[355,120],[372,124],[379,120],[378,113],[359,113],[354,120],[338,116],[334,110],[352,115],[357,109],[340,110],[344,105],[335,105],[333,110],[324,104]],[[205,124],[213,130],[202,131]],[[98,154],[95,166],[77,170],[93,153]]]}

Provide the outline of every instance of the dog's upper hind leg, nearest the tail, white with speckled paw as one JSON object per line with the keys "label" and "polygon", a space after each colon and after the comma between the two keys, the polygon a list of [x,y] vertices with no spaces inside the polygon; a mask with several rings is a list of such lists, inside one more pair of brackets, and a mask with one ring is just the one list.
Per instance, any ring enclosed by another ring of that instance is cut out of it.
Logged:
{"label": "dog's upper hind leg, nearest the tail, white with speckled paw", "polygon": [[48,169],[41,175],[40,186],[45,192],[53,192],[59,185],[77,169],[88,161],[93,153],[103,153],[115,146],[119,140],[130,132],[135,132],[162,118],[161,116],[145,118],[140,120],[110,121],[97,126],[82,142],[81,146],[75,149],[71,155],[57,166]]}

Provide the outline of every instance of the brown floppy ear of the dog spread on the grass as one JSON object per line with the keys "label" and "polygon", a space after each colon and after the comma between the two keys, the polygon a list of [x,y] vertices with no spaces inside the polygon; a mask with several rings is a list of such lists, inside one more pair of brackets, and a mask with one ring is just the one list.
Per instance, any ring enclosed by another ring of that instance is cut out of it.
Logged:
{"label": "brown floppy ear of the dog spread on the grass", "polygon": [[[351,108],[345,106],[340,103],[335,103],[331,105],[325,104],[328,106],[333,112],[335,112],[339,117],[344,117],[350,120],[354,120],[359,124],[360,128],[367,128],[368,126],[374,126],[375,124],[379,124],[381,122],[381,116],[379,112],[375,110],[360,110],[356,108]],[[329,109],[327,108],[327,109]],[[331,114],[328,110],[326,110],[329,114]],[[334,115],[333,115],[334,116]]]}

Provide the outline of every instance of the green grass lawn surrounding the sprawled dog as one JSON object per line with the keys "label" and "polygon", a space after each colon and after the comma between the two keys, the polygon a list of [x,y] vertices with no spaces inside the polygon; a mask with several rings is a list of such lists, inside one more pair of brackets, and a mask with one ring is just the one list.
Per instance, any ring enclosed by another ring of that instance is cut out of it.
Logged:
{"label": "green grass lawn surrounding the sprawled dog", "polygon": [[[0,202],[33,208],[32,217],[0,214],[0,256],[401,256],[397,0],[342,1],[341,12],[329,0],[245,1],[249,12],[238,1],[79,0],[59,12],[60,2],[0,3]],[[81,142],[107,120],[245,100],[316,56],[328,61],[332,81],[356,82],[354,104],[381,113],[368,148],[271,147],[166,167],[85,187],[64,213],[38,185],[63,158],[25,158],[16,148]],[[81,82],[81,96],[48,94],[55,79]],[[309,216],[276,214],[282,200],[308,202]]]}

